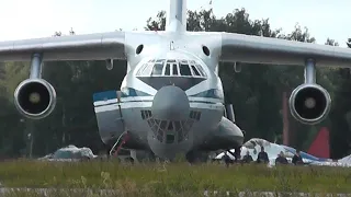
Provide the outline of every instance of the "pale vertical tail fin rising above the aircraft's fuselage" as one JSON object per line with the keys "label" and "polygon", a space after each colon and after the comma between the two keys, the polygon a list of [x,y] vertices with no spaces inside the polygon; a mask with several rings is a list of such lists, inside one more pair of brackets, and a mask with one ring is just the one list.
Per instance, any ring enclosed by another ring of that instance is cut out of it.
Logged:
{"label": "pale vertical tail fin rising above the aircraft's fuselage", "polygon": [[169,0],[167,32],[186,31],[186,0]]}

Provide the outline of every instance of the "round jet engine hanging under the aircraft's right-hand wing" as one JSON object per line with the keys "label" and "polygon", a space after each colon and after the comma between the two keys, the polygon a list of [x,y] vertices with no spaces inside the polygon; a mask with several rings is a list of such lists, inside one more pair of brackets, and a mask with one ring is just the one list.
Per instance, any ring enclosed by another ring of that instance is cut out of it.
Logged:
{"label": "round jet engine hanging under the aircraft's right-hand wing", "polygon": [[328,91],[314,83],[297,86],[288,100],[293,117],[308,125],[324,120],[330,111],[330,103]]}

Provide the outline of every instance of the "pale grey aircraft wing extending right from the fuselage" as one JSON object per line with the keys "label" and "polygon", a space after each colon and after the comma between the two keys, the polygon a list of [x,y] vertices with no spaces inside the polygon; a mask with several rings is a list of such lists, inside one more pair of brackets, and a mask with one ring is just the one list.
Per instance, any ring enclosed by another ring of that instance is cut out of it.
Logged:
{"label": "pale grey aircraft wing extending right from the fuselage", "polygon": [[304,66],[314,58],[316,66],[351,67],[351,48],[318,45],[263,36],[220,33],[219,61]]}

